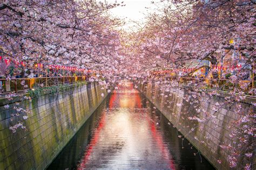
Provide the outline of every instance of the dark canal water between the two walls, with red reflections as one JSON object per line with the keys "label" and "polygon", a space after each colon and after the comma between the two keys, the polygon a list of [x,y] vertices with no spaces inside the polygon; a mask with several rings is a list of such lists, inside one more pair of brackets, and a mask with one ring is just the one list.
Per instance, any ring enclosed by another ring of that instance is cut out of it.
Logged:
{"label": "dark canal water between the two walls, with red reflections", "polygon": [[123,82],[48,169],[214,169],[179,135],[132,83]]}

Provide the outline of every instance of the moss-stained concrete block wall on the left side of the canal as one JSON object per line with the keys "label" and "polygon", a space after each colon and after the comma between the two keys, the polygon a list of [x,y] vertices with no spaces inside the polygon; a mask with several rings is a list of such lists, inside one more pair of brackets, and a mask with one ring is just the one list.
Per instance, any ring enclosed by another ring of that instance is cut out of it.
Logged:
{"label": "moss-stained concrete block wall on the left side of the canal", "polygon": [[[58,93],[48,91],[31,102],[16,99],[17,103],[10,103],[2,99],[0,169],[46,168],[106,96],[106,90],[99,84],[88,83],[72,85]],[[4,108],[5,104],[10,108]],[[16,116],[15,106],[27,108],[30,113]],[[13,133],[9,128],[18,122],[26,130],[19,128]]]}

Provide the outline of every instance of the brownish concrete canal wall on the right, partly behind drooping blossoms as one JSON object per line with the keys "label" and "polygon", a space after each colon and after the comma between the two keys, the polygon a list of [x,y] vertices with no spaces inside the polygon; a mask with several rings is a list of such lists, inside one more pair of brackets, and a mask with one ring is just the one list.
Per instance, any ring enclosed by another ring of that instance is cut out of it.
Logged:
{"label": "brownish concrete canal wall on the right, partly behind drooping blossoms", "polygon": [[[193,107],[196,104],[191,105],[184,100],[183,97],[188,94],[187,90],[173,88],[170,89],[169,92],[163,92],[165,89],[161,89],[155,82],[136,82],[136,84],[138,84],[138,89],[156,105],[163,115],[169,119],[190,143],[197,147],[217,169],[230,169],[229,162],[227,161],[229,153],[221,148],[220,145],[223,143],[231,144],[232,146],[237,145],[237,143],[233,143],[230,132],[240,128],[240,126],[234,122],[243,117],[244,113],[248,111],[255,112],[255,107],[251,104],[251,102],[255,102],[255,99],[247,98],[244,102],[239,102],[241,105],[240,115],[234,112],[232,105],[225,104],[218,112],[214,113],[216,117],[211,119],[211,121],[188,121],[188,117],[196,116],[200,119],[204,119],[205,115],[202,111],[196,111]],[[224,97],[225,96],[215,96],[209,100],[201,96],[200,102],[197,104],[199,108],[203,108],[206,112],[211,114],[214,112],[213,108],[217,107],[217,101],[220,103],[224,100]],[[189,112],[187,112],[187,109]],[[192,127],[195,127],[194,131],[191,130]],[[242,157],[238,160],[237,169],[244,169],[242,165],[248,163],[246,159],[246,157]],[[218,160],[221,161],[221,164],[219,164]]]}

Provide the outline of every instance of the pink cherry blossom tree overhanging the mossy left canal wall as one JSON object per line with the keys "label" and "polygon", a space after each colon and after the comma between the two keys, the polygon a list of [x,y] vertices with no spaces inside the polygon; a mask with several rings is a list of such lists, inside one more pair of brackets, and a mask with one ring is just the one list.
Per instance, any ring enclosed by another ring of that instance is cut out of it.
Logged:
{"label": "pink cherry blossom tree overhanging the mossy left canal wall", "polygon": [[120,48],[122,21],[107,10],[120,4],[95,1],[11,1],[1,10],[1,54],[23,61],[78,66],[86,69],[114,68]]}

